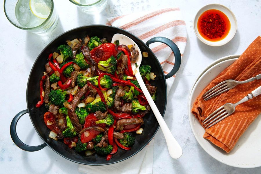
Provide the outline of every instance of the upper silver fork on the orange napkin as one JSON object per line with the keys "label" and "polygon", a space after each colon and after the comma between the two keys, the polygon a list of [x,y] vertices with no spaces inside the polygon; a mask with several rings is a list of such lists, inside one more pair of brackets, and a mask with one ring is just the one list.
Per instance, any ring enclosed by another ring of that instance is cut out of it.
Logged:
{"label": "upper silver fork on the orange napkin", "polygon": [[250,81],[254,81],[254,80],[258,80],[258,79],[261,79],[261,74],[256,75],[255,77],[252,77],[252,78],[244,80],[244,81],[235,81],[232,79],[225,80],[225,81],[220,82],[219,84],[217,84],[210,90],[208,90],[202,97],[204,100],[208,100],[208,99],[211,99],[212,97],[220,95],[221,93],[224,93],[225,91],[228,91],[228,90],[234,88],[235,86],[237,86],[239,84],[248,83]]}

